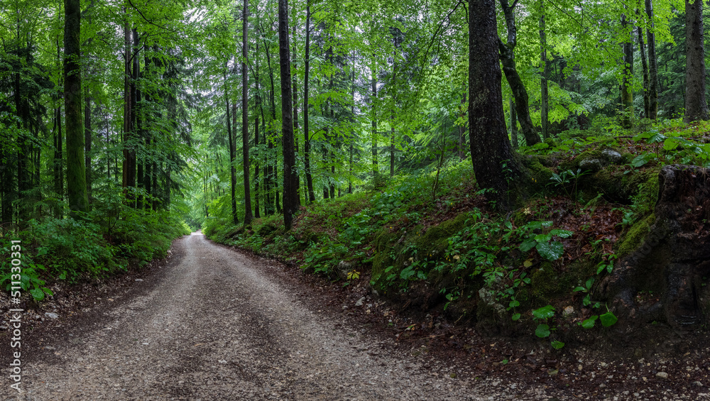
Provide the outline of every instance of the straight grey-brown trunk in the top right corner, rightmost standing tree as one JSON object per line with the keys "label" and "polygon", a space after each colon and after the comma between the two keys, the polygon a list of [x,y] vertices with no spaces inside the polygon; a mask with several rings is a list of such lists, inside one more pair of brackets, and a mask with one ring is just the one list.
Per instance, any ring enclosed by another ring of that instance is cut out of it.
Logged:
{"label": "straight grey-brown trunk in the top right corner, rightmost standing tree", "polygon": [[685,117],[689,123],[708,120],[705,100],[705,49],[703,45],[703,2],[685,0]]}

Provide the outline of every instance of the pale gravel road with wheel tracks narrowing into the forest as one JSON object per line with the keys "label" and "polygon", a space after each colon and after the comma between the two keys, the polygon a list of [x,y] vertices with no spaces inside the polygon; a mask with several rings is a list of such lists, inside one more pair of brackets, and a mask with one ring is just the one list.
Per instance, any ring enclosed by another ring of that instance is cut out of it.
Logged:
{"label": "pale gravel road with wheel tracks narrowing into the forest", "polygon": [[[194,233],[161,274],[23,361],[4,400],[506,400],[313,310],[268,260]],[[364,330],[362,330],[364,331]],[[31,334],[28,334],[31,336]],[[390,344],[391,345],[391,344]],[[392,351],[394,349],[394,351]],[[515,388],[515,385],[512,386]],[[515,391],[520,400],[520,388]],[[522,399],[547,400],[530,390]]]}

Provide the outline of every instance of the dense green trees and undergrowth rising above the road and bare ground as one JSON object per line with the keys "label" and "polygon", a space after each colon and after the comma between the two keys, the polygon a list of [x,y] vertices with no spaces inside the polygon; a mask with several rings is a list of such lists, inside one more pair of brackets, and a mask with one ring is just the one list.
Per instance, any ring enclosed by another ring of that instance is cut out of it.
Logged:
{"label": "dense green trees and undergrowth rising above the road and bare ground", "polygon": [[[47,280],[143,265],[202,228],[348,283],[361,263],[373,285],[422,280],[448,305],[462,278],[499,277],[508,311],[540,306],[546,292],[518,291],[525,269],[576,260],[560,241],[580,229],[520,217],[526,202],[607,202],[621,228],[584,237],[596,277],[650,213],[658,169],[707,163],[684,131],[709,119],[705,15],[666,0],[3,1],[0,241],[27,247],[35,300]],[[585,187],[600,144],[645,175]],[[388,253],[432,225],[443,248]],[[495,261],[501,238],[520,269]],[[589,277],[570,286],[587,295]]]}

